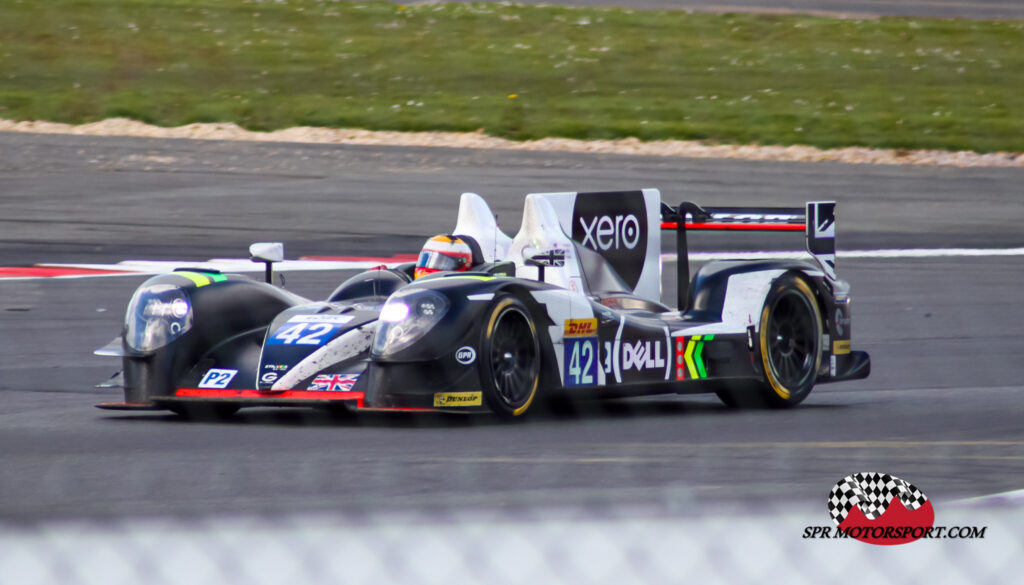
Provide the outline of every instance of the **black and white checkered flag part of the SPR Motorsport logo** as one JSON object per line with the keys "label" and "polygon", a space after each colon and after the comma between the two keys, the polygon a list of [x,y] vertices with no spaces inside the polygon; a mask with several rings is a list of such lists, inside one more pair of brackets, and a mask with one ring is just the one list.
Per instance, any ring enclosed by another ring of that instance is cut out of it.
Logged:
{"label": "black and white checkered flag part of the SPR Motorsport logo", "polygon": [[828,513],[839,526],[853,506],[860,508],[867,519],[878,519],[889,509],[893,498],[908,510],[916,510],[928,502],[924,492],[909,482],[888,473],[854,473],[843,477],[828,495]]}

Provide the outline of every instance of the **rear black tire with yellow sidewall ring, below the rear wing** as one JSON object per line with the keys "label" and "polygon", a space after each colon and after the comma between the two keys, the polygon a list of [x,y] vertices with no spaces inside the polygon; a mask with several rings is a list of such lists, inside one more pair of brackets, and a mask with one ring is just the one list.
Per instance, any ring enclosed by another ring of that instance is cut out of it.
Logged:
{"label": "rear black tire with yellow sidewall ring, below the rear wing", "polygon": [[804,401],[821,366],[821,310],[807,281],[775,281],[764,308],[758,351],[764,378],[744,390],[720,391],[730,407],[788,408]]}

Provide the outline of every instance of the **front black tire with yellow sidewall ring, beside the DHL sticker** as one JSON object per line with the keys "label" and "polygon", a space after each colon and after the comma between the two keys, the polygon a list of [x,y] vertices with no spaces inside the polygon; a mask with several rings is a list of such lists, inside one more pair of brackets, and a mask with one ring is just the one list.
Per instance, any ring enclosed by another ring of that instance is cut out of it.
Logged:
{"label": "front black tire with yellow sidewall ring, beside the DHL sticker", "polygon": [[529,310],[512,296],[499,297],[487,314],[480,342],[483,400],[503,418],[524,415],[541,384],[541,344]]}

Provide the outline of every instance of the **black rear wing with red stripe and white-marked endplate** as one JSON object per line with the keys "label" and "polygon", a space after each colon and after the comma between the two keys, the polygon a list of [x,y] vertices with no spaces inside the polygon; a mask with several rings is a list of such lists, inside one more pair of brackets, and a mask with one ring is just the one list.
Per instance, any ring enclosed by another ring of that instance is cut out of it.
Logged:
{"label": "black rear wing with red stripe and white-marked endplate", "polygon": [[662,204],[662,229],[676,232],[679,256],[677,305],[686,305],[690,283],[686,232],[691,229],[745,232],[804,232],[807,251],[829,278],[836,278],[836,202],[809,201],[799,207],[700,207],[683,202],[678,207]]}

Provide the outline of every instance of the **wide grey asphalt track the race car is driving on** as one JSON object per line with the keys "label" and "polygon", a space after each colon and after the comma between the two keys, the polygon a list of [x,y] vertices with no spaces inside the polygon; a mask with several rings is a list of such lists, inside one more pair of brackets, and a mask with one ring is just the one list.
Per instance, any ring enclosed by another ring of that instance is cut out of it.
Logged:
{"label": "wide grey asphalt track the race car is driving on", "polygon": [[[0,265],[240,257],[260,240],[285,242],[288,257],[415,252],[451,229],[462,191],[514,232],[525,193],[641,186],[719,205],[836,199],[841,249],[1014,248],[1021,184],[1013,169],[0,134]],[[936,502],[1024,488],[1024,257],[850,259],[840,273],[854,346],[872,356],[867,380],[821,385],[790,411],[658,396],[516,424],[95,410],[118,398],[92,384],[119,364],[91,350],[118,333],[142,278],[0,280],[0,519],[767,499],[821,508],[825,524],[829,489],[858,471],[904,477]],[[323,296],[344,277],[290,274],[288,287]]]}

